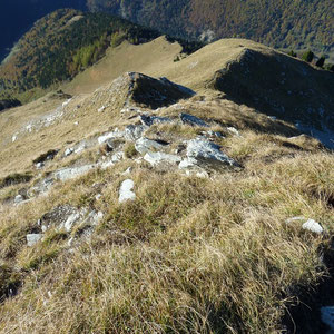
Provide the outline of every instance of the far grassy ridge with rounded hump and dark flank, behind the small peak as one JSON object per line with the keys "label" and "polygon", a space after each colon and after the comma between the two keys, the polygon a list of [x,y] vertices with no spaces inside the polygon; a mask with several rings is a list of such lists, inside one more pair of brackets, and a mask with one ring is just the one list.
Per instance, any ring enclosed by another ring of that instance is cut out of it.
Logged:
{"label": "far grassy ridge with rounded hump and dark flank, behind the small peak", "polygon": [[222,91],[226,99],[291,121],[334,147],[332,72],[245,39],[223,39],[175,62],[179,50],[163,37],[140,46],[125,42],[62,87],[89,92],[122,71],[165,76],[196,91]]}

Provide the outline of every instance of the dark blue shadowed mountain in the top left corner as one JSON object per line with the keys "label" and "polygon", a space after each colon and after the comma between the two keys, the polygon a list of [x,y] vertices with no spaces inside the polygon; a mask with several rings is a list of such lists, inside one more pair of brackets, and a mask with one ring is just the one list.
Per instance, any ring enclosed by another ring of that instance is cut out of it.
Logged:
{"label": "dark blue shadowed mountain in the top left corner", "polygon": [[59,8],[86,9],[86,0],[3,0],[0,2],[0,60],[32,24]]}

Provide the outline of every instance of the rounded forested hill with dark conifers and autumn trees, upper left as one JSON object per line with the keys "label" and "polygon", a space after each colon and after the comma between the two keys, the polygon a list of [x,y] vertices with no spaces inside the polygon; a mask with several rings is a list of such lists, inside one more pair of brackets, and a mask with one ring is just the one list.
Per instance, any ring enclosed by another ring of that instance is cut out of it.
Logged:
{"label": "rounded forested hill with dark conifers and autumn trees, upper left", "polygon": [[[71,79],[102,58],[107,48],[117,47],[124,40],[139,45],[158,36],[156,30],[109,13],[58,9],[38,20],[3,60],[0,97],[12,97],[36,87],[45,89]],[[184,51],[203,46],[179,42]]]}

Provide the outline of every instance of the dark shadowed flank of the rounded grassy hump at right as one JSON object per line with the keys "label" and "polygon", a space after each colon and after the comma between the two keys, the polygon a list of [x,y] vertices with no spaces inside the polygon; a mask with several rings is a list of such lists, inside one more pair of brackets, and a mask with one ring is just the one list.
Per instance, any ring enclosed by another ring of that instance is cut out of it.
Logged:
{"label": "dark shadowed flank of the rounded grassy hump at right", "polygon": [[237,104],[294,122],[334,148],[334,76],[274,50],[244,48],[207,82]]}

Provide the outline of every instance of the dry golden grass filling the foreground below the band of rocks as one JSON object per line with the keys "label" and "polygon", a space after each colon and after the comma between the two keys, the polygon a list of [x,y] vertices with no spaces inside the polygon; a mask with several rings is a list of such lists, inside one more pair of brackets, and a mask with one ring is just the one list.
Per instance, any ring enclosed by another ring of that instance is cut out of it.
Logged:
{"label": "dry golden grass filling the foreground below the band of rocks", "polygon": [[[296,151],[268,168],[256,151],[244,171],[214,181],[135,167],[132,203],[117,200],[125,161],[9,209],[0,249],[22,287],[0,306],[1,332],[278,333],[293,287],[323,275],[326,243],[285,219],[332,232],[333,156]],[[94,184],[104,184],[98,202]],[[66,203],[106,214],[92,239],[69,253],[51,230],[27,248],[29,228]]]}

